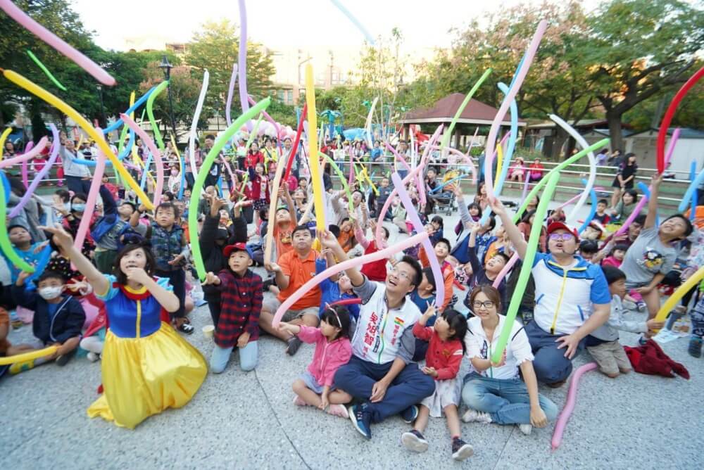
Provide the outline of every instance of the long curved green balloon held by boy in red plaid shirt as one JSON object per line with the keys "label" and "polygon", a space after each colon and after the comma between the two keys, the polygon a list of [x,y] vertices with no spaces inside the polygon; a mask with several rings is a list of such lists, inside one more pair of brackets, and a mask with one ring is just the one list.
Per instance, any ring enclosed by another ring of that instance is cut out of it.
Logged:
{"label": "long curved green balloon held by boy in red plaid shirt", "polygon": [[[156,90],[154,93],[156,93]],[[152,95],[154,93],[152,93]],[[196,177],[196,181],[193,185],[193,191],[191,191],[191,202],[189,203],[188,208],[188,231],[189,234],[191,234],[191,253],[193,254],[193,262],[194,265],[196,265],[196,272],[198,272],[198,277],[201,281],[206,279],[207,273],[206,265],[203,263],[203,255],[201,254],[201,245],[198,242],[198,203],[201,199],[201,191],[203,191],[203,185],[206,182],[206,177],[208,176],[208,172],[210,172],[210,167],[212,167],[213,163],[215,163],[215,158],[217,158],[220,154],[222,147],[224,147],[225,144],[232,139],[234,133],[237,132],[239,128],[247,122],[247,120],[250,120],[258,113],[265,110],[270,103],[271,98],[267,97],[256,103],[256,105],[249,108],[246,113],[234,120],[230,127],[227,127],[225,132],[220,134],[218,140],[215,141],[213,148],[210,149],[206,159],[203,160],[203,166],[201,166],[201,170],[198,172],[198,176]]]}

